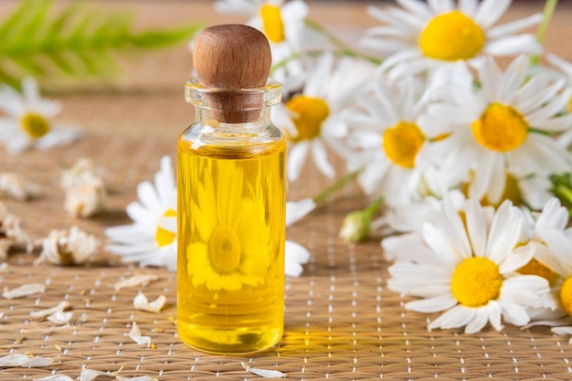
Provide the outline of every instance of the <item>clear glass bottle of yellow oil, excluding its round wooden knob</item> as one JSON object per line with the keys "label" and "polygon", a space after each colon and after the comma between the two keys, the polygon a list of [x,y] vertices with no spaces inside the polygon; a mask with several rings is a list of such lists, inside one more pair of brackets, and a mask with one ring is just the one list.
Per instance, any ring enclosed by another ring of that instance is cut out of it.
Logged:
{"label": "clear glass bottle of yellow oil, excluding its round wooden knob", "polygon": [[286,143],[270,122],[281,90],[203,82],[185,86],[196,121],[177,150],[177,328],[195,349],[246,354],[283,332]]}

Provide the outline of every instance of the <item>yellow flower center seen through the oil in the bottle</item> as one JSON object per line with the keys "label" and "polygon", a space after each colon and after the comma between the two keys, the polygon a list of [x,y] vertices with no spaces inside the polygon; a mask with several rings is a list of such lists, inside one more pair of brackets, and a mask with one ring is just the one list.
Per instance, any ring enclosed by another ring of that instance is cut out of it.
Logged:
{"label": "yellow flower center seen through the oil in the bottle", "polygon": [[208,258],[213,270],[220,274],[236,271],[240,264],[240,252],[240,240],[233,229],[220,225],[213,230],[208,240]]}

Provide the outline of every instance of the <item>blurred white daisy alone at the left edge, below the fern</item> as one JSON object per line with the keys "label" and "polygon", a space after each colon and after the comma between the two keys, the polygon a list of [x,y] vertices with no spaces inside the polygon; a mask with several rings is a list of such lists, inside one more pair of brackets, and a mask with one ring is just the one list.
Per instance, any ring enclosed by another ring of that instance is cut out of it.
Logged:
{"label": "blurred white daisy alone at the left edge, below the fern", "polygon": [[0,85],[0,111],[7,115],[0,118],[0,142],[8,152],[20,153],[30,146],[44,150],[79,139],[78,130],[53,121],[61,107],[40,98],[36,80],[23,79],[22,92]]}

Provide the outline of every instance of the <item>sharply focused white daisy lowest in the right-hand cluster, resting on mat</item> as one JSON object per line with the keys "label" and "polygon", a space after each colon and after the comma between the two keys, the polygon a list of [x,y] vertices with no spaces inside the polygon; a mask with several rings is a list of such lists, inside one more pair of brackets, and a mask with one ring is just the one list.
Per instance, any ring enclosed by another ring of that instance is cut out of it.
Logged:
{"label": "sharply focused white daisy lowest in the right-hand cluster, resting on mat", "polygon": [[548,292],[548,282],[535,275],[520,275],[534,255],[532,245],[519,246],[522,213],[509,201],[491,221],[475,200],[464,206],[464,220],[444,203],[440,218],[422,230],[425,246],[416,262],[398,261],[389,268],[387,286],[394,291],[423,298],[406,303],[418,312],[443,312],[429,323],[433,328],[465,327],[476,333],[486,323],[503,328],[529,322],[525,310]]}

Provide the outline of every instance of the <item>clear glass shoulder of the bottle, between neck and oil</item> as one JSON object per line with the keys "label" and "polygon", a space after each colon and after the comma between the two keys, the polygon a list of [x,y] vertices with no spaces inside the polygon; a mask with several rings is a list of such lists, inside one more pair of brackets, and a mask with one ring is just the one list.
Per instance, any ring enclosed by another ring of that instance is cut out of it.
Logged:
{"label": "clear glass shoulder of the bottle, between neck and oil", "polygon": [[286,150],[283,133],[271,123],[196,122],[181,133],[179,150],[220,158],[249,158]]}

